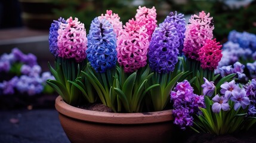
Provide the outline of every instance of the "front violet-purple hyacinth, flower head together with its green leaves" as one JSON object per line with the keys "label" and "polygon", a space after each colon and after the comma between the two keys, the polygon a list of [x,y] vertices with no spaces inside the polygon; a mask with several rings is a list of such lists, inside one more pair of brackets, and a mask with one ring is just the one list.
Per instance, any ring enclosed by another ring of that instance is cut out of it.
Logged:
{"label": "front violet-purple hyacinth, flower head together with its green leaves", "polygon": [[150,90],[154,110],[163,110],[169,93],[184,72],[178,71],[179,36],[175,23],[170,21],[156,27],[149,45],[149,66],[154,72],[150,85],[159,84]]}

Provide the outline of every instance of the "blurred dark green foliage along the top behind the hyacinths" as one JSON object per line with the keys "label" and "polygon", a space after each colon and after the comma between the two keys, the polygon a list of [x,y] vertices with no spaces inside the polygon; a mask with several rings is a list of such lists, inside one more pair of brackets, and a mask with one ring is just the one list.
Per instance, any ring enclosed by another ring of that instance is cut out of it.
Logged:
{"label": "blurred dark green foliage along the top behind the hyacinths", "polygon": [[[91,21],[105,14],[106,10],[112,10],[121,17],[125,24],[129,19],[134,18],[137,5],[133,0],[53,0],[59,8],[54,9],[57,17],[69,18],[78,17],[79,21],[85,24],[85,28],[90,29]],[[158,14],[158,23],[161,23],[170,11],[178,11],[185,15],[198,14],[200,11],[211,13],[214,17],[215,29],[214,36],[217,41],[226,42],[227,35],[231,30],[239,32],[256,33],[256,2],[252,1],[246,7],[230,8],[224,3],[224,0],[187,0],[178,2],[178,0],[147,0],[143,1],[141,7],[146,6],[156,8]],[[166,10],[166,7],[168,9]],[[188,17],[188,18],[189,18]],[[87,31],[88,32],[88,31]]]}

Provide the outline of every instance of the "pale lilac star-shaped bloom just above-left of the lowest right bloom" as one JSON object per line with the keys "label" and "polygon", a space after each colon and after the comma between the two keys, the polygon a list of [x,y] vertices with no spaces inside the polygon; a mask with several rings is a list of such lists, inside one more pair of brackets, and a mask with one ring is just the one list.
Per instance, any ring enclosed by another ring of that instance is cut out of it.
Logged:
{"label": "pale lilac star-shaped bloom just above-left of the lowest right bloom", "polygon": [[241,90],[239,86],[236,85],[235,80],[232,80],[231,82],[224,82],[220,87],[221,94],[224,94],[226,98],[230,98],[234,92],[240,92]]}

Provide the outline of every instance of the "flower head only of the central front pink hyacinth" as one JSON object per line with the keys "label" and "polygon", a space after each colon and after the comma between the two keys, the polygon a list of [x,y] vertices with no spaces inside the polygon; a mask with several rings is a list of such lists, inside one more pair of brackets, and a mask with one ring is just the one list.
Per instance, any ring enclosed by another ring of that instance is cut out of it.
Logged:
{"label": "flower head only of the central front pink hyacinth", "polygon": [[125,72],[133,72],[147,64],[149,35],[142,21],[129,20],[119,32],[117,48],[118,63]]}

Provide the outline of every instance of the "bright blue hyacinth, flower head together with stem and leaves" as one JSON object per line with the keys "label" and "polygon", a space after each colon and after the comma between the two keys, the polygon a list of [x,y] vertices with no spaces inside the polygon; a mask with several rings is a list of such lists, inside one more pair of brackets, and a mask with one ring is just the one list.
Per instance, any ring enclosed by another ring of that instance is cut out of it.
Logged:
{"label": "bright blue hyacinth, flower head together with stem and leaves", "polygon": [[[112,108],[110,88],[113,86],[113,76],[115,76],[116,61],[118,58],[116,52],[116,34],[109,21],[105,18],[95,17],[91,22],[87,38],[88,48],[86,53],[89,61],[88,64],[90,64],[94,71],[92,71],[90,66],[87,66],[87,71],[82,71],[82,73],[85,74],[94,86],[101,102],[107,105],[107,107]],[[88,82],[84,83],[84,86],[88,85]],[[113,110],[115,111],[115,108]]]}

